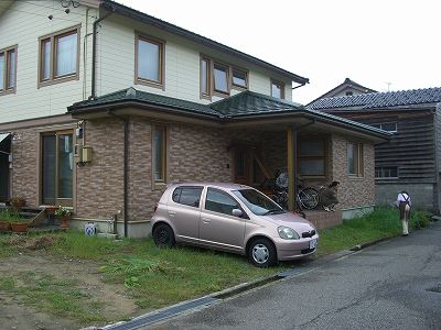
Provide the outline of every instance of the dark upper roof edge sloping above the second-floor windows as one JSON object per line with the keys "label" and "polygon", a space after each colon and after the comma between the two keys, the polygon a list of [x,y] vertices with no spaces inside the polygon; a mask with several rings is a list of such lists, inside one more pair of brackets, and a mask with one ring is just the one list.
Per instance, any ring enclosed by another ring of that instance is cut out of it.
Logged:
{"label": "dark upper roof edge sloping above the second-floor windows", "polygon": [[101,8],[106,9],[108,11],[111,11],[111,12],[117,12],[117,13],[119,13],[121,15],[129,16],[129,18],[131,18],[133,20],[138,20],[138,21],[141,21],[143,23],[157,26],[157,28],[162,29],[164,31],[168,31],[170,33],[178,34],[178,35],[183,36],[183,37],[185,37],[187,40],[191,40],[191,41],[194,41],[196,43],[206,45],[208,47],[212,47],[212,48],[215,48],[217,51],[227,53],[229,55],[234,55],[236,57],[243,58],[243,59],[245,59],[247,62],[250,62],[250,63],[254,63],[254,64],[256,64],[258,66],[265,67],[265,68],[267,68],[269,70],[272,70],[272,72],[276,72],[276,73],[278,73],[280,75],[287,76],[287,77],[289,77],[290,79],[292,79],[293,81],[295,81],[298,84],[304,85],[304,84],[309,82],[308,78],[304,78],[302,76],[299,76],[299,75],[295,75],[293,73],[290,73],[290,72],[288,72],[286,69],[282,69],[282,68],[280,68],[280,67],[278,67],[276,65],[272,65],[272,64],[270,64],[268,62],[259,59],[259,58],[257,58],[255,56],[251,56],[251,55],[248,55],[248,54],[243,53],[240,51],[234,50],[234,48],[232,48],[229,46],[226,46],[224,44],[220,44],[220,43],[218,43],[218,42],[216,42],[214,40],[211,40],[208,37],[202,36],[200,34],[196,34],[196,33],[191,32],[189,30],[182,29],[182,28],[176,26],[174,24],[168,23],[168,22],[162,21],[160,19],[157,19],[157,18],[154,18],[152,15],[149,15],[149,14],[143,13],[141,11],[135,10],[135,9],[132,9],[130,7],[127,7],[127,6],[123,6],[121,3],[118,3],[116,1],[103,0]]}

